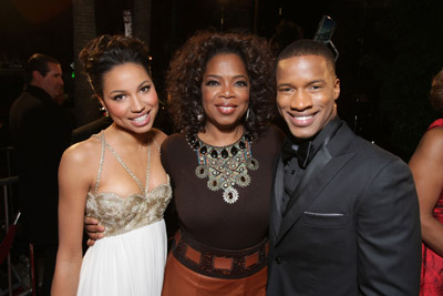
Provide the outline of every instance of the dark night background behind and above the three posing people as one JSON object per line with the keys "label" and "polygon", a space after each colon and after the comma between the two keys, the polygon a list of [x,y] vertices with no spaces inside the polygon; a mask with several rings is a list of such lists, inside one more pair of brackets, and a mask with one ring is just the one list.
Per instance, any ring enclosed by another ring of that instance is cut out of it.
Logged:
{"label": "dark night background behind and above the three posing people", "polygon": [[[96,34],[123,33],[122,11],[131,10],[133,1],[95,0]],[[312,38],[321,17],[328,14],[338,23],[332,41],[340,52],[339,114],[358,134],[408,161],[426,126],[437,118],[427,93],[432,76],[443,67],[441,0],[151,2],[153,73],[163,100],[171,55],[196,30],[213,27],[270,39],[278,23],[289,20],[305,38]],[[8,112],[21,92],[20,67],[32,53],[61,61],[66,104],[75,104],[70,68],[74,61],[72,12],[71,0],[0,0],[1,145],[9,144]]]}

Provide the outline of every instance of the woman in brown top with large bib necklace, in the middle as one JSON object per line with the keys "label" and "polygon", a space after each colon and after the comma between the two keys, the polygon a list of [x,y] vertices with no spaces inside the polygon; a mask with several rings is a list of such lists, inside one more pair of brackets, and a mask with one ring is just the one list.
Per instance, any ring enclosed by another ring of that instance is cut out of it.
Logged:
{"label": "woman in brown top with large bib necklace, in the middle", "polygon": [[282,133],[268,43],[199,32],[175,54],[169,110],[181,133],[162,145],[179,231],[163,295],[265,295],[272,165]]}

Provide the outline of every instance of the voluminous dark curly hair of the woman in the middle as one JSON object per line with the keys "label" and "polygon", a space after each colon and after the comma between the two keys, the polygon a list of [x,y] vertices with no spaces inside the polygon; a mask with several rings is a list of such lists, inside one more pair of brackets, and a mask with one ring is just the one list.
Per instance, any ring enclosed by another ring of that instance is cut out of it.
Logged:
{"label": "voluminous dark curly hair of the woman in the middle", "polygon": [[202,81],[207,62],[219,53],[235,53],[245,63],[250,81],[249,116],[245,130],[257,139],[276,113],[274,57],[268,42],[243,33],[197,32],[176,52],[166,79],[169,111],[175,127],[187,135],[204,131]]}

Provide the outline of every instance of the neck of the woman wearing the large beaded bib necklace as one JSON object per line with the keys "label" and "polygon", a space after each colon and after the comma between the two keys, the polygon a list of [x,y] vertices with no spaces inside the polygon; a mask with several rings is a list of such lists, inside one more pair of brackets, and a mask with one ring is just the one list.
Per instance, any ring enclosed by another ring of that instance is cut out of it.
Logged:
{"label": "neck of the woman wearing the large beaded bib necklace", "polygon": [[240,139],[244,131],[245,127],[240,124],[228,130],[220,130],[214,125],[206,125],[205,131],[198,133],[198,137],[213,146],[226,146]]}

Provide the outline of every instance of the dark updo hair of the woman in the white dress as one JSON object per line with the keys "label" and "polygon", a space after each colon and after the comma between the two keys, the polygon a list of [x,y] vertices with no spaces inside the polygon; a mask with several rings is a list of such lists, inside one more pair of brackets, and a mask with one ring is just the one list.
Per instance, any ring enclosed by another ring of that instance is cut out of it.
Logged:
{"label": "dark updo hair of the woman in the white dress", "polygon": [[103,95],[103,76],[124,63],[142,65],[152,78],[147,45],[132,37],[101,35],[87,43],[79,54],[83,71],[93,91]]}

